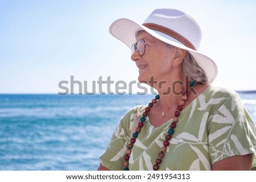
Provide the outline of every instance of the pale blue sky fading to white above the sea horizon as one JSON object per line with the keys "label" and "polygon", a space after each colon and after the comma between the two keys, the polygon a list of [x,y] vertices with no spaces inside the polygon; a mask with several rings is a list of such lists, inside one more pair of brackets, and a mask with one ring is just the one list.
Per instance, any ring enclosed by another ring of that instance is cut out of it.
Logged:
{"label": "pale blue sky fading to white above the sea horizon", "polygon": [[118,18],[142,23],[162,7],[199,22],[199,51],[218,65],[213,85],[256,90],[256,1],[0,0],[0,93],[63,92],[58,84],[71,76],[89,87],[100,76],[137,81],[129,48],[109,34],[109,26]]}

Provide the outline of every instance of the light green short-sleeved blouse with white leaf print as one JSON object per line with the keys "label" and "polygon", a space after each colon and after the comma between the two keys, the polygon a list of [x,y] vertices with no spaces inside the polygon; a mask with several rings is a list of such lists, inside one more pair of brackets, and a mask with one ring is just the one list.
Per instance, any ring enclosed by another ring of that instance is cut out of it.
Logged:
{"label": "light green short-sleeved blouse with white leaf print", "polygon": [[[142,114],[146,106],[138,106]],[[119,122],[100,162],[110,170],[123,170],[137,108]],[[159,170],[211,170],[212,164],[234,155],[253,154],[256,166],[256,129],[236,92],[209,86],[185,107]],[[153,170],[172,119],[154,127],[146,119],[132,149],[130,170]]]}

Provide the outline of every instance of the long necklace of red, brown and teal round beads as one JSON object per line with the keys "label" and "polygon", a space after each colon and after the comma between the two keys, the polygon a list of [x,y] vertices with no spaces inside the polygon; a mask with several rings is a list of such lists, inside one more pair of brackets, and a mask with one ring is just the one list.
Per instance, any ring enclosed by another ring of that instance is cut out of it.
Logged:
{"label": "long necklace of red, brown and teal round beads", "polygon": [[[187,98],[189,96],[189,92],[192,89],[192,86],[196,84],[195,81],[191,81],[188,88],[185,89],[183,92],[183,96],[181,96],[181,101],[179,102],[179,105],[177,105],[176,111],[174,113],[175,117],[172,119],[172,123],[170,124],[170,128],[167,132],[166,139],[163,142],[163,147],[161,148],[161,151],[158,154],[158,158],[155,160],[155,165],[153,166],[153,169],[157,171],[159,169],[159,165],[162,163],[162,159],[164,157],[164,153],[167,151],[167,147],[170,144],[170,140],[172,138],[172,134],[174,134],[174,129],[176,127],[176,123],[179,121],[179,115],[181,110],[183,110],[183,106],[185,105],[185,101],[187,101]],[[156,102],[160,99],[159,95],[156,95],[154,99],[148,104],[145,111],[142,114],[142,117],[140,119],[140,122],[138,123],[138,126],[133,133],[133,138],[130,139],[130,143],[128,144],[127,150],[125,152],[125,162],[123,163],[124,171],[129,171],[129,159],[131,154],[131,149],[133,148],[133,144],[136,142],[136,138],[139,135],[139,132],[141,131],[141,128],[144,126],[144,122],[146,121],[146,117],[148,113],[150,112],[151,108],[156,104]]]}

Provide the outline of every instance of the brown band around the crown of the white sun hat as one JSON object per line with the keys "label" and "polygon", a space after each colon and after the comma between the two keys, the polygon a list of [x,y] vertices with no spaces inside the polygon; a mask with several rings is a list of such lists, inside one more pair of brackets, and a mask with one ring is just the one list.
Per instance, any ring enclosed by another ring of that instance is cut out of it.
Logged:
{"label": "brown band around the crown of the white sun hat", "polygon": [[154,24],[154,23],[143,23],[142,25],[152,30],[157,30],[157,31],[163,32],[164,34],[170,35],[173,38],[179,40],[179,42],[183,43],[188,48],[191,48],[196,51],[196,48],[193,46],[193,44],[191,44],[186,38],[184,38],[177,32],[170,30],[169,28],[159,26],[158,24]]}

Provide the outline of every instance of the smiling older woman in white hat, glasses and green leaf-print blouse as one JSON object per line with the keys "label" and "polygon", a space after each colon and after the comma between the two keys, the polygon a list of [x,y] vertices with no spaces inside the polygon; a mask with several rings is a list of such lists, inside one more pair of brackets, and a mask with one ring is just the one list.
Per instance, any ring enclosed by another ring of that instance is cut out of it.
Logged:
{"label": "smiling older woman in white hat, glasses and green leaf-print blouse", "polygon": [[138,80],[158,95],[127,111],[98,170],[250,170],[256,130],[237,93],[211,86],[216,64],[199,53],[191,16],[156,9],[139,25],[118,19],[110,33],[131,47]]}

